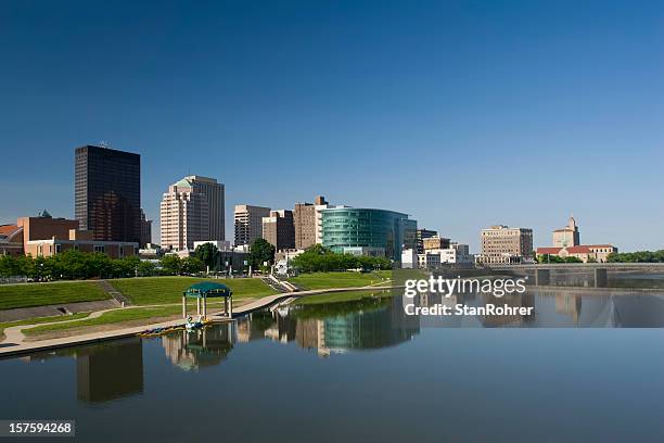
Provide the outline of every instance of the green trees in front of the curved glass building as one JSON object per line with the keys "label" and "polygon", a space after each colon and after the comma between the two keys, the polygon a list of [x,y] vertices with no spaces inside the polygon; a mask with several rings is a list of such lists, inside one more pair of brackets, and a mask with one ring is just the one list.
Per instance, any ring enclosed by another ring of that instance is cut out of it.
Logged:
{"label": "green trees in front of the curved glass building", "polygon": [[339,254],[320,244],[308,248],[304,253],[291,261],[291,265],[302,273],[324,273],[330,270],[390,269],[391,263],[386,257],[371,257],[367,255]]}

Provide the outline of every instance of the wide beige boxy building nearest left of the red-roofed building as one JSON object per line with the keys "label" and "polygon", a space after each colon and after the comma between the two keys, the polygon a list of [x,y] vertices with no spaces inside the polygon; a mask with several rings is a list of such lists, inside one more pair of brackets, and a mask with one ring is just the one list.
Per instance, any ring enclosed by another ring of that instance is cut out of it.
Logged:
{"label": "wide beige boxy building nearest left of the red-roofed building", "polygon": [[515,264],[533,261],[533,229],[495,225],[482,229],[482,264]]}

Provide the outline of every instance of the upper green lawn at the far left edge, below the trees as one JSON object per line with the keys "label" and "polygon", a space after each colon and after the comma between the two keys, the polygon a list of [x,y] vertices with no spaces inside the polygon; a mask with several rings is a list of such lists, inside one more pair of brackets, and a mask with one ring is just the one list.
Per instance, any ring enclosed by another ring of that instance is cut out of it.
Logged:
{"label": "upper green lawn at the far left edge, below the trees", "polygon": [[108,295],[93,281],[0,286],[0,309],[106,299]]}

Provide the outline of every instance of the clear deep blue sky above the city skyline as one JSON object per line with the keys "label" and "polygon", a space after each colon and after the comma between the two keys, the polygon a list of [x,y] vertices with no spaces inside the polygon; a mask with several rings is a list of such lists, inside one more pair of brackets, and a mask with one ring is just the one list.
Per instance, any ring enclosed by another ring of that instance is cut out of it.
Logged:
{"label": "clear deep blue sky above the city skyline", "polygon": [[142,155],[155,219],[187,174],[239,203],[480,229],[571,213],[664,248],[664,3],[2,1],[0,223],[74,216],[74,149]]}

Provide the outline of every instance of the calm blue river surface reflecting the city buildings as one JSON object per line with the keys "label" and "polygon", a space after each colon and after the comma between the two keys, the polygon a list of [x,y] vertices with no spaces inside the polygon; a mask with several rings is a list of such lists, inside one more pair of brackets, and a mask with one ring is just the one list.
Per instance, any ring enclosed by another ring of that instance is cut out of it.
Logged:
{"label": "calm blue river surface reflecting the city buildings", "polygon": [[76,419],[90,442],[662,441],[664,291],[503,301],[536,315],[374,296],[0,360],[0,418]]}

